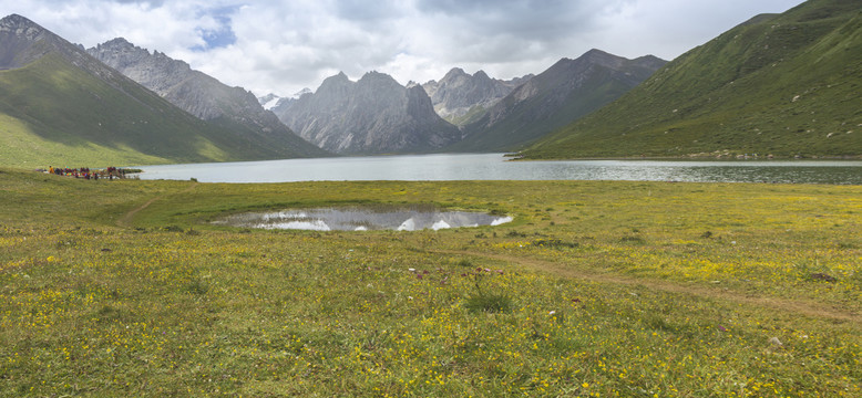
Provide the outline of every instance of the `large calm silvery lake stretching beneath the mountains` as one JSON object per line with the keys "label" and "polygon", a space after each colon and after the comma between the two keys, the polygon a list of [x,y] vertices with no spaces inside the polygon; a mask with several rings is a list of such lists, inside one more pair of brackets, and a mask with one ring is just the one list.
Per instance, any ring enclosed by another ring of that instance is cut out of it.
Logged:
{"label": "large calm silvery lake stretching beneath the mountains", "polygon": [[856,160],[509,161],[502,154],[438,154],[141,166],[142,179],[202,182],[367,180],[633,180],[862,185]]}

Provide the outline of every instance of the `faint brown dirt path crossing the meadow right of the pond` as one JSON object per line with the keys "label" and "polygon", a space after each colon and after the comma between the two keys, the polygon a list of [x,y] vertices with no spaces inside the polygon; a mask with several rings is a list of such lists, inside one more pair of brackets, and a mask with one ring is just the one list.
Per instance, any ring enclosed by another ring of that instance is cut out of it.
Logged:
{"label": "faint brown dirt path crossing the meadow right of the pond", "polygon": [[780,297],[751,296],[747,293],[740,293],[740,292],[722,290],[722,289],[711,289],[702,285],[687,286],[674,282],[667,282],[667,281],[636,279],[636,277],[628,277],[628,276],[616,275],[616,274],[603,274],[603,273],[591,272],[586,270],[574,269],[566,264],[553,263],[548,261],[536,260],[536,259],[524,258],[524,256],[482,253],[482,252],[473,252],[473,251],[441,250],[441,251],[433,251],[433,252],[440,254],[450,254],[450,255],[479,256],[479,258],[493,259],[503,262],[511,262],[511,263],[516,263],[556,276],[622,284],[622,285],[633,285],[633,286],[640,285],[640,286],[645,286],[651,290],[657,290],[663,292],[690,294],[698,297],[717,298],[721,301],[729,301],[729,302],[735,302],[740,304],[757,305],[761,307],[774,308],[774,310],[780,310],[780,311],[790,312],[794,314],[802,314],[814,318],[829,318],[833,321],[848,322],[854,327],[862,328],[862,314],[841,311],[819,303],[811,303],[811,302],[803,302],[803,301],[796,301],[796,300],[780,298]]}

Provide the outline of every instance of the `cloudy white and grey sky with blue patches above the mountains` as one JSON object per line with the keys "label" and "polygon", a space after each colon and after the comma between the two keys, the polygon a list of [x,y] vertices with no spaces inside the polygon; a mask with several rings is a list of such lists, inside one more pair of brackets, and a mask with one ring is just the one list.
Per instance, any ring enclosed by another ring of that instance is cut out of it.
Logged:
{"label": "cloudy white and grey sky with blue patches above the mountains", "polygon": [[541,73],[591,49],[673,60],[802,0],[17,0],[21,14],[92,48],[114,38],[183,60],[258,96],[316,90],[345,72],[440,80]]}

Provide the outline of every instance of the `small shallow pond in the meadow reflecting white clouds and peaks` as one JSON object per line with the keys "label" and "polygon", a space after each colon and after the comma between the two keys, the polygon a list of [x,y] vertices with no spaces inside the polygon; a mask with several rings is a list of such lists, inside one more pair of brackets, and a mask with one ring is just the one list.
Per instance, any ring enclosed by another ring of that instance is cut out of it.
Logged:
{"label": "small shallow pond in the meadow reflecting white clouds and peaks", "polygon": [[417,231],[448,228],[499,226],[507,216],[469,211],[442,211],[433,207],[347,207],[243,213],[214,223],[244,228],[297,229],[312,231]]}

